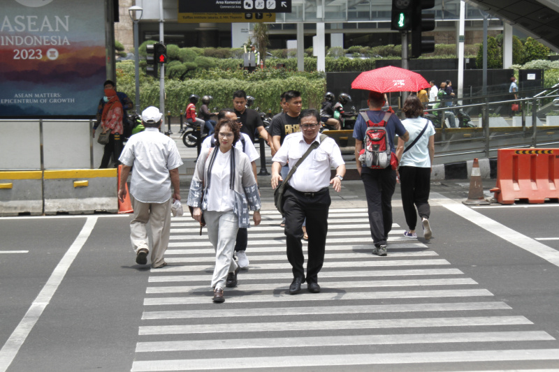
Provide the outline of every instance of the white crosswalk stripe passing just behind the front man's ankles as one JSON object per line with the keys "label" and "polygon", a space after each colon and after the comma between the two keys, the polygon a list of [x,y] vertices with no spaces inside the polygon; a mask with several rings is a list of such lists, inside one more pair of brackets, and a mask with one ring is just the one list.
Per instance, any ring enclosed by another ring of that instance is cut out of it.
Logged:
{"label": "white crosswalk stripe passing just behind the front man's ankles", "polygon": [[[213,272],[213,271],[212,271]],[[286,279],[291,282],[293,274],[291,271],[282,273],[263,273],[252,274],[250,271],[245,273],[241,271],[240,278],[243,281],[261,279]],[[463,275],[464,273],[459,269],[412,269],[412,270],[375,270],[375,271],[321,271],[321,280],[328,278],[370,278],[376,276],[427,276],[427,275]],[[147,281],[150,283],[168,283],[175,281],[211,281],[212,274],[205,275],[162,275],[150,276]]]}

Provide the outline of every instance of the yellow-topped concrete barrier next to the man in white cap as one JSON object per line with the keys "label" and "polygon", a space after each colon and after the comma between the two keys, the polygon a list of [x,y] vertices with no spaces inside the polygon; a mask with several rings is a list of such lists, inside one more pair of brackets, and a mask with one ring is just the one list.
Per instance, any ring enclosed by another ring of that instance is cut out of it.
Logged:
{"label": "yellow-topped concrete barrier next to the man in white cap", "polygon": [[45,214],[117,213],[117,169],[45,170]]}

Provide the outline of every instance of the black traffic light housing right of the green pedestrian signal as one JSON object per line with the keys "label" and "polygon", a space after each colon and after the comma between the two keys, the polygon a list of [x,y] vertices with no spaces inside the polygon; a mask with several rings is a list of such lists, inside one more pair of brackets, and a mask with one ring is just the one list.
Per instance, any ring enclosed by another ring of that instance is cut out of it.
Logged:
{"label": "black traffic light housing right of the green pedestrian signal", "polygon": [[414,0],[414,22],[412,25],[412,58],[419,58],[423,53],[435,52],[435,36],[422,36],[423,31],[435,29],[435,15],[423,14],[424,9],[435,6],[435,0]]}

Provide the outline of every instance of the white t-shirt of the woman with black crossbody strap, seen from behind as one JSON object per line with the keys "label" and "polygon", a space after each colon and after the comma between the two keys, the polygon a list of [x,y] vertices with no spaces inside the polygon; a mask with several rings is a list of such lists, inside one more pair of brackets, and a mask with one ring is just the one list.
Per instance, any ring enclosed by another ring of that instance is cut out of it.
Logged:
{"label": "white t-shirt of the woman with black crossbody strap, seen from behind", "polygon": [[429,123],[429,126],[421,135],[421,138],[414,144],[414,147],[402,155],[400,166],[417,168],[431,167],[431,160],[429,158],[429,138],[435,135],[435,127],[428,119],[417,117],[402,120],[402,124],[404,124],[406,131],[409,133],[409,140],[405,143],[404,149],[414,142],[427,123]]}

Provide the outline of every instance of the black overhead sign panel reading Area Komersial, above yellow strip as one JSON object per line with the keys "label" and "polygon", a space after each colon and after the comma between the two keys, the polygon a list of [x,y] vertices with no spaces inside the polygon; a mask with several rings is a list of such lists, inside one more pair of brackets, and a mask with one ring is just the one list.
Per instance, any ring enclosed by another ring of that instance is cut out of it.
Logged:
{"label": "black overhead sign panel reading Area Komersial, above yellow strip", "polygon": [[178,0],[180,13],[291,13],[291,0]]}

